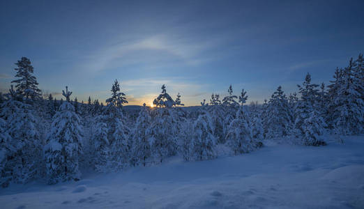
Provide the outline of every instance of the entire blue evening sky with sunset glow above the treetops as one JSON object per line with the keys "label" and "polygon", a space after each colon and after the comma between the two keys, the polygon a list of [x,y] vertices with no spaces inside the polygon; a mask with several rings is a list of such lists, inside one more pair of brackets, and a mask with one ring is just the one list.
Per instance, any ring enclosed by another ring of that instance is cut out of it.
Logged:
{"label": "entire blue evening sky with sunset glow above the treetops", "polygon": [[263,102],[328,84],[364,51],[364,1],[0,1],[0,91],[31,59],[44,93],[104,101],[115,79],[129,104],[160,93],[199,105],[248,91]]}

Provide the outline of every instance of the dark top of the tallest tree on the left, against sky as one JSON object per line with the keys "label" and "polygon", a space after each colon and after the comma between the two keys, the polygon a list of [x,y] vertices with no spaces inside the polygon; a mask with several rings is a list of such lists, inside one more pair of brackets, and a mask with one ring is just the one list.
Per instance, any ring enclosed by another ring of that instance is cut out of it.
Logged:
{"label": "dark top of the tallest tree on the left, against sky", "polygon": [[40,89],[38,88],[37,79],[33,75],[34,68],[31,61],[26,57],[22,57],[15,65],[17,65],[15,77],[19,79],[13,80],[12,83],[16,84],[17,92],[23,95],[26,100],[40,98]]}

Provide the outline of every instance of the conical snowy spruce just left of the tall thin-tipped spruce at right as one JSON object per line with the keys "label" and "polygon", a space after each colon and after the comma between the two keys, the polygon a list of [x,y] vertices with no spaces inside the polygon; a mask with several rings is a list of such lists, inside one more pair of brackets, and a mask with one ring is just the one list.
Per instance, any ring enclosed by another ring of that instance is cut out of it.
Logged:
{"label": "conical snowy spruce just left of the tall thin-tipped spruce at right", "polygon": [[268,127],[266,137],[285,137],[289,130],[291,118],[289,116],[288,100],[282,91],[282,86],[278,86],[268,102]]}

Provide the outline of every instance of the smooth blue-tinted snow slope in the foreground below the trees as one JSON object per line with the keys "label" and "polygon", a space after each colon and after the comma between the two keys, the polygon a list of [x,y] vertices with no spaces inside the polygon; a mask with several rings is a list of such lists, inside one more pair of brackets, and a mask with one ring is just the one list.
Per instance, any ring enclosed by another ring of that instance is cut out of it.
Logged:
{"label": "smooth blue-tinted snow slope in the foreground below the trees", "polygon": [[364,208],[364,136],[0,189],[0,208]]}

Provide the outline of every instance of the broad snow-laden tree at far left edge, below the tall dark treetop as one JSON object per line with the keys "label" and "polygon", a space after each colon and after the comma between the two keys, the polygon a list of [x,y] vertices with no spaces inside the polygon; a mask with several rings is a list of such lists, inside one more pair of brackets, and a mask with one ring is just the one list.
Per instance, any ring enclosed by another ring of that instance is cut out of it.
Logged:
{"label": "broad snow-laden tree at far left edge, below the tall dark treetop", "polygon": [[[14,91],[13,91],[14,93]],[[40,137],[36,129],[36,118],[31,105],[21,101],[20,91],[1,103],[1,150],[6,157],[1,164],[1,185],[8,186],[10,181],[27,183],[40,173]],[[20,99],[20,100],[18,100]]]}

